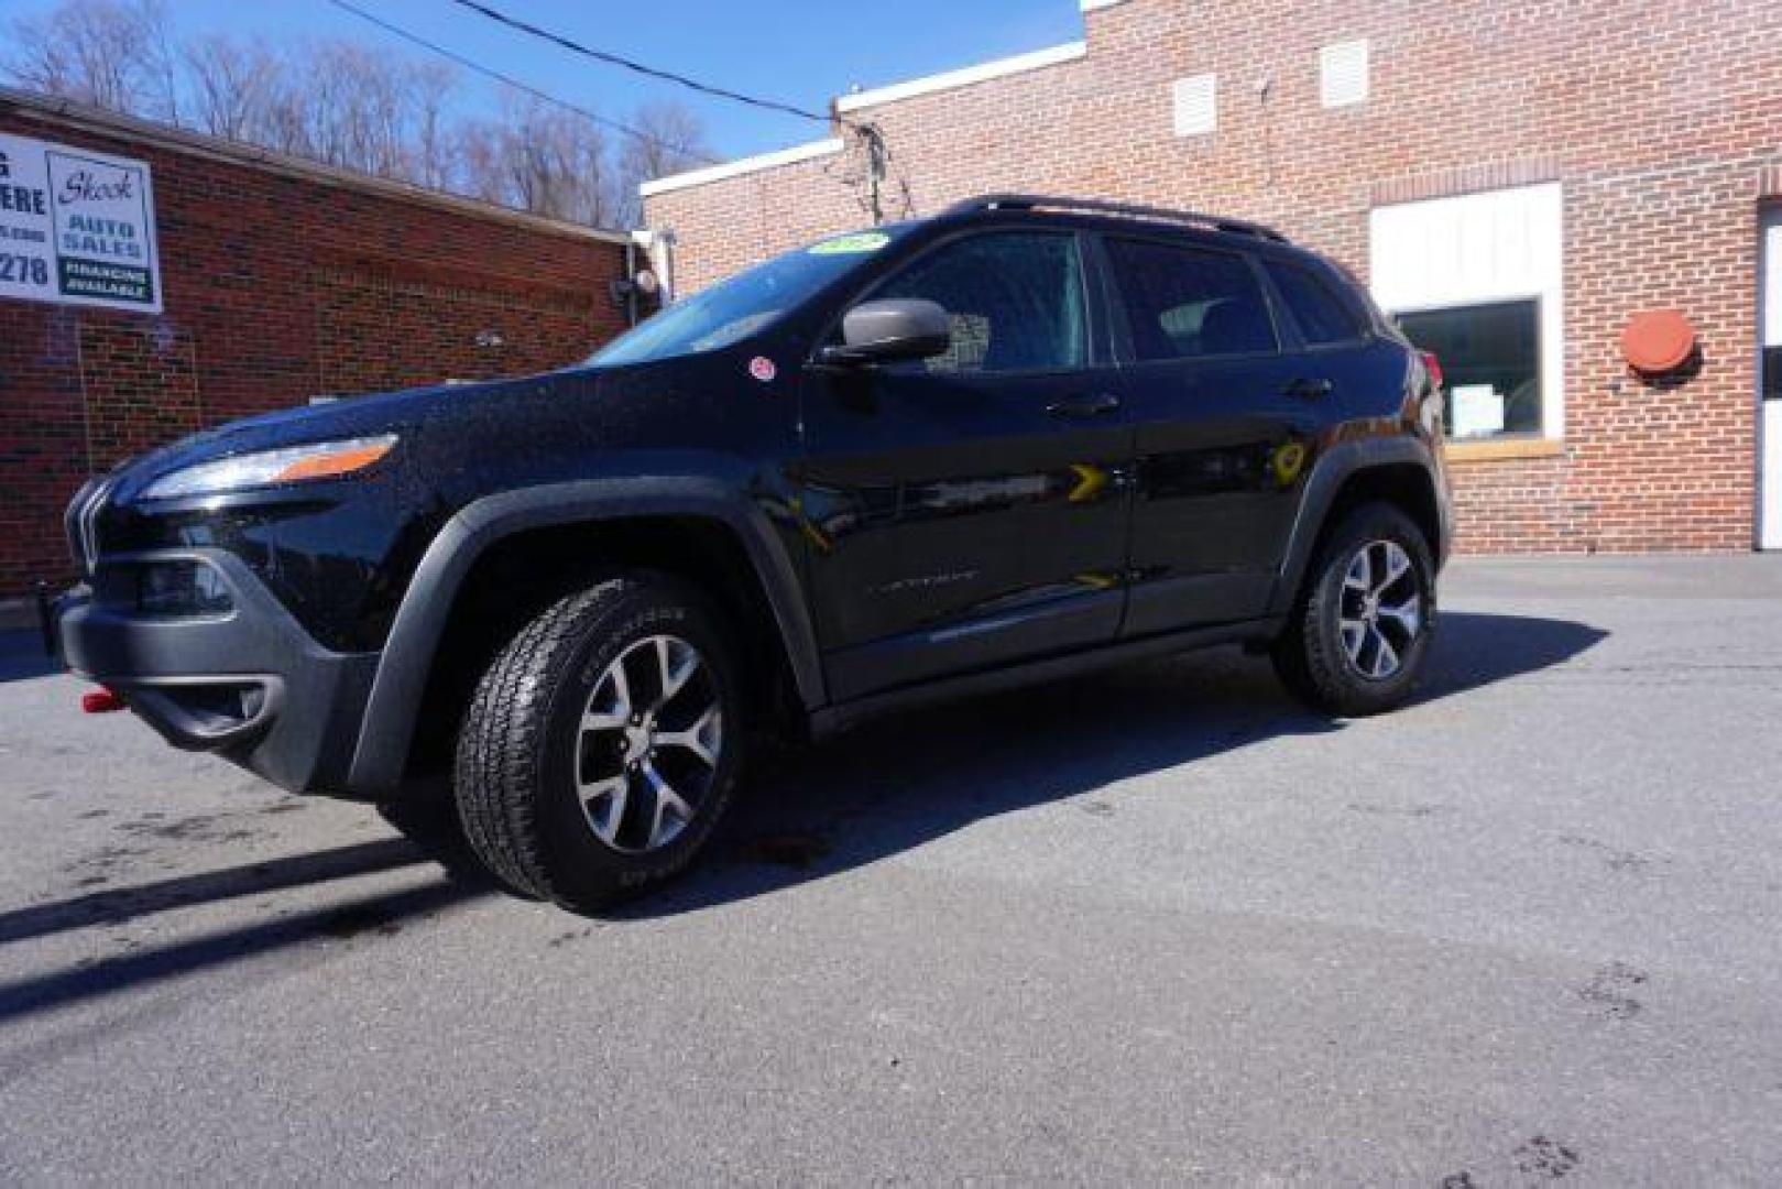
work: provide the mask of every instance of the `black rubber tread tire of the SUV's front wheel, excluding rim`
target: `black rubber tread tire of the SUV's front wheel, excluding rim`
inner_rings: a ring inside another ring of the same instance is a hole
[[[625,852],[590,829],[576,791],[581,715],[593,685],[629,645],[672,633],[713,670],[723,743],[697,813],[656,850]],[[465,840],[522,895],[593,911],[679,873],[736,791],[743,731],[740,679],[725,620],[686,583],[615,574],[526,624],[490,663],[470,699],[453,772]]]

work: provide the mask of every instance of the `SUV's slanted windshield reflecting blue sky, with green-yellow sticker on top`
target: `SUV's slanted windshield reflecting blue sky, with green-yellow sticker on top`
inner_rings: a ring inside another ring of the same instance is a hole
[[[834,235],[757,264],[638,323],[588,362],[643,364],[731,346],[884,248],[896,230]]]

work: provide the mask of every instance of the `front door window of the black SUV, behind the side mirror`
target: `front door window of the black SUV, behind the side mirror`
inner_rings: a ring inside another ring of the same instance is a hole
[[[934,373],[1082,367],[1089,360],[1076,237],[1060,232],[973,235],[880,285],[873,298],[927,298],[946,310],[953,342],[923,360]]]

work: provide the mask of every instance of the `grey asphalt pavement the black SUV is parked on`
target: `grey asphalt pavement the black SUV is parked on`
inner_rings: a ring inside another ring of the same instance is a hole
[[[0,1182],[1782,1180],[1782,558],[1461,562],[773,756],[606,918],[0,647]]]

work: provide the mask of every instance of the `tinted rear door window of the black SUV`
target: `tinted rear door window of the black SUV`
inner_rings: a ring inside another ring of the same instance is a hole
[[[1121,303],[1140,360],[1274,351],[1274,323],[1244,257],[1110,239]]]

